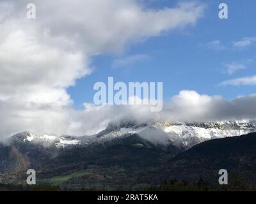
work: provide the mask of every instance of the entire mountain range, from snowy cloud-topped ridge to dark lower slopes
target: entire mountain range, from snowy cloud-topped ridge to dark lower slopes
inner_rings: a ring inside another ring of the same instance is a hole
[[[255,132],[252,120],[124,120],[112,122],[92,136],[23,132],[0,144],[0,182],[22,183],[25,171],[34,168],[40,184],[74,189],[136,189],[139,184],[156,185],[172,179],[195,182],[202,175],[214,183],[218,168],[243,175],[252,172],[255,135],[241,135]]]

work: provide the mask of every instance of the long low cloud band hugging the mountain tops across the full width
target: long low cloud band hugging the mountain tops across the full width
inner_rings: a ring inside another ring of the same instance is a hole
[[[4,131],[9,133],[10,131],[19,132],[24,129],[38,133],[92,135],[106,128],[109,122],[122,119],[138,120],[138,122],[148,120],[200,122],[255,119],[255,103],[256,95],[227,101],[221,96],[207,96],[200,95],[195,91],[181,91],[179,95],[173,96],[170,101],[164,102],[162,112],[150,112],[150,106],[146,105],[95,106],[84,104],[84,110],[56,107],[55,112],[53,112],[52,107],[41,107],[41,109],[35,107],[36,113],[40,113],[40,115],[38,114],[40,117],[38,115],[34,117],[35,120],[31,120],[34,115],[33,110],[29,108],[22,110],[23,113],[28,114],[27,117],[19,117],[15,110],[12,110],[12,117],[10,117],[11,109],[6,109],[8,106],[2,104],[1,113],[8,115],[5,119],[1,118],[2,135],[4,135]],[[19,108],[16,109],[18,113],[21,112]]]

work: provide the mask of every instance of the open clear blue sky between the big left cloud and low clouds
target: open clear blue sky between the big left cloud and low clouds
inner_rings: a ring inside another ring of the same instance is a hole
[[[203,1],[201,1],[203,2]],[[179,1],[150,1],[147,7],[172,7]],[[221,95],[227,99],[255,92],[255,86],[219,86],[232,78],[255,74],[255,45],[234,48],[234,42],[256,36],[256,2],[225,1],[228,19],[218,18],[218,5],[224,1],[204,1],[204,17],[195,26],[164,33],[140,43],[127,45],[122,54],[93,57],[93,73],[77,80],[68,93],[76,108],[93,101],[93,84],[107,82],[163,82],[164,99],[181,90],[195,90],[200,94]],[[218,41],[211,47],[212,41]],[[115,61],[124,62],[120,67]],[[227,64],[243,64],[244,68],[227,73]]]

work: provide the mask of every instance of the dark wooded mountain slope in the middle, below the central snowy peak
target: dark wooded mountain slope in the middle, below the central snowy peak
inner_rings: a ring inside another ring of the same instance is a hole
[[[58,175],[62,171],[79,171],[88,166],[122,166],[122,168],[141,168],[159,166],[177,155],[180,150],[170,145],[168,147],[154,145],[138,135],[127,135],[112,142],[96,142],[87,148],[74,148],[63,152],[60,156],[45,164],[40,171],[44,175]],[[67,168],[68,166],[68,168]],[[56,171],[56,168],[58,170]],[[67,173],[67,172],[65,172]]]

